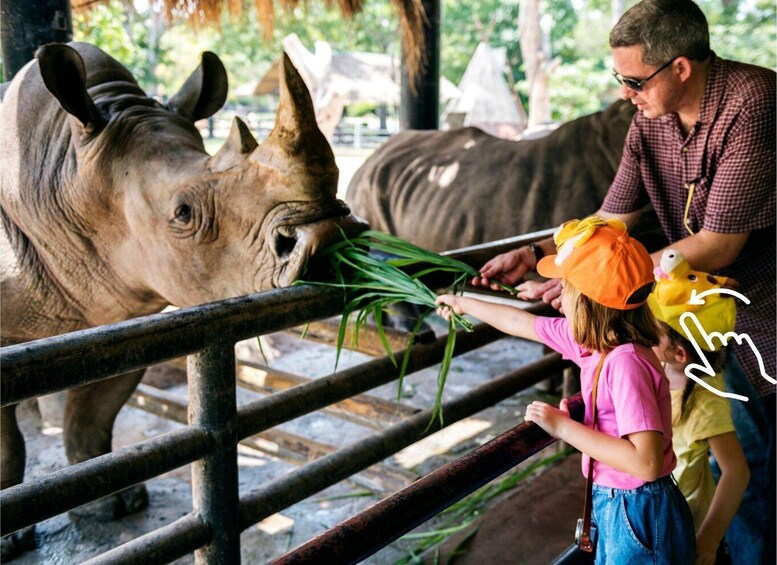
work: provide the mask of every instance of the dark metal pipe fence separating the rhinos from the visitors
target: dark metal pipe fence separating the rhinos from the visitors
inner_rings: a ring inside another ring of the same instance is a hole
[[[192,551],[198,563],[236,563],[242,530],[438,431],[429,425],[431,410],[419,412],[238,497],[236,446],[241,439],[398,377],[391,360],[379,358],[236,405],[237,341],[334,316],[342,305],[335,289],[297,286],[0,349],[2,406],[190,356],[188,426],[2,490],[0,535],[193,463],[190,514],[90,563],[169,562]],[[456,354],[501,337],[478,325],[471,333],[460,332]],[[445,337],[412,346],[408,373],[438,363],[444,349]],[[564,366],[553,354],[506,373],[444,404],[445,423],[509,398]]]

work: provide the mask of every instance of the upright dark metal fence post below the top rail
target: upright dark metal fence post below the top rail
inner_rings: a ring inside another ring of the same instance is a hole
[[[215,452],[192,464],[192,506],[212,532],[210,544],[194,553],[195,563],[240,563],[234,345],[190,355],[188,372],[189,424],[216,439]]]

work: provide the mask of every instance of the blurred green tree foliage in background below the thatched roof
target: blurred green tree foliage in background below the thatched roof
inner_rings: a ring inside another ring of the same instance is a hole
[[[635,2],[627,1],[626,8]],[[476,22],[482,29],[493,24],[489,44],[507,49],[512,79],[526,101],[525,86],[521,86],[525,76],[518,37],[520,5],[521,0],[446,0],[441,17],[441,74],[458,83],[481,40]],[[699,0],[699,5],[710,23],[712,47],[720,56],[777,67],[772,0]],[[552,55],[562,61],[550,79],[553,118],[568,120],[600,109],[617,92],[610,77],[611,0],[545,0],[543,9],[552,20]],[[257,23],[252,2],[245,3],[242,16],[225,17],[219,29],[193,30],[180,23],[160,28],[160,17],[147,3],[133,7],[131,1],[110,0],[76,14],[74,35],[126,64],[147,91],[156,87],[158,94],[167,95],[180,88],[206,49],[224,61],[231,93],[244,85],[250,90],[282,52],[282,39],[289,33],[296,33],[311,50],[316,41],[328,42],[336,52],[398,54],[400,50],[397,18],[385,0],[365,2],[364,11],[351,20],[344,20],[334,3],[306,2],[290,11],[278,8],[269,37]]]

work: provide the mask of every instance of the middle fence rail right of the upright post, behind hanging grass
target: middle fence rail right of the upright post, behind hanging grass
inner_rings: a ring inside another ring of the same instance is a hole
[[[456,354],[465,353],[495,341],[504,334],[486,324],[478,324],[472,332],[459,331]],[[446,337],[430,344],[415,345],[410,354],[407,373],[430,367],[442,360]],[[401,359],[403,352],[397,353]],[[356,367],[338,371],[328,377],[276,392],[238,407],[238,438],[259,432],[314,412],[355,394],[360,394],[398,378],[399,368],[388,357],[382,357]]]

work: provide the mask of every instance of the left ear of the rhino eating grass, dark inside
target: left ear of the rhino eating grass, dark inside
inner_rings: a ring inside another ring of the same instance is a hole
[[[86,91],[86,68],[81,55],[72,47],[52,43],[38,49],[35,56],[43,83],[62,108],[85,128],[102,129],[105,118]]]

